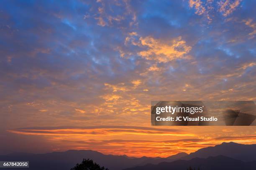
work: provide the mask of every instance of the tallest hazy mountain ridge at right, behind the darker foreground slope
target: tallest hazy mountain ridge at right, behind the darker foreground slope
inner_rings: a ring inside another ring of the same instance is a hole
[[[208,158],[209,156],[223,155],[243,161],[256,160],[256,145],[243,145],[238,143],[222,143],[213,147],[207,147],[197,150],[195,153],[181,158],[182,160],[190,160],[192,158]]]

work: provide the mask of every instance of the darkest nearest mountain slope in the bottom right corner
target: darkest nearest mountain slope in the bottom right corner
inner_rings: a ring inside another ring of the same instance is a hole
[[[225,156],[209,158],[193,158],[192,160],[176,160],[171,163],[159,163],[158,165],[147,164],[125,170],[186,170],[189,167],[196,170],[255,170],[256,161],[243,162]]]

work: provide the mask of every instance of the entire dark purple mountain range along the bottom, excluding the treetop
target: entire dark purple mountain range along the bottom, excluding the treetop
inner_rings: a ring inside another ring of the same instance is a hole
[[[69,170],[82,159],[92,159],[110,170],[186,170],[189,166],[202,170],[255,170],[256,145],[222,143],[197,150],[178,153],[168,158],[134,158],[126,155],[105,155],[92,150],[68,150],[45,154],[13,153],[0,155],[0,161],[29,161],[30,170]],[[23,168],[20,168],[20,170]],[[24,168],[25,169],[25,168]],[[11,170],[8,168],[7,170]]]

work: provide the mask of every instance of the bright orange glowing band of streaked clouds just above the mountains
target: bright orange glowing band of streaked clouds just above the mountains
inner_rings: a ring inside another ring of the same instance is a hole
[[[200,148],[230,141],[243,144],[256,142],[256,135],[238,136],[243,131],[243,128],[239,130],[237,127],[230,127],[228,129],[209,127],[207,132],[205,132],[205,128],[200,127],[189,127],[189,129],[186,127],[181,129],[177,127],[95,126],[84,128],[19,128],[9,130],[9,132],[20,135],[44,136],[49,143],[58,145],[62,150],[95,150],[97,148],[97,151],[105,154],[125,154],[136,157],[145,155],[168,157],[180,152],[195,152]],[[197,135],[188,131],[196,131]],[[217,137],[212,133],[214,131],[216,131]],[[225,136],[218,136],[221,131],[225,133]],[[212,135],[210,135],[210,132]]]

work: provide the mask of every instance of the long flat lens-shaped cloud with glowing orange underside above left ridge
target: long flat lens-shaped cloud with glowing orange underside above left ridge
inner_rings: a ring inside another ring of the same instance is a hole
[[[87,135],[171,135],[171,136],[193,136],[193,134],[183,133],[177,129],[157,129],[133,126],[95,126],[95,127],[38,127],[19,128],[8,130],[11,133],[23,135],[56,135],[56,136],[81,136]]]

